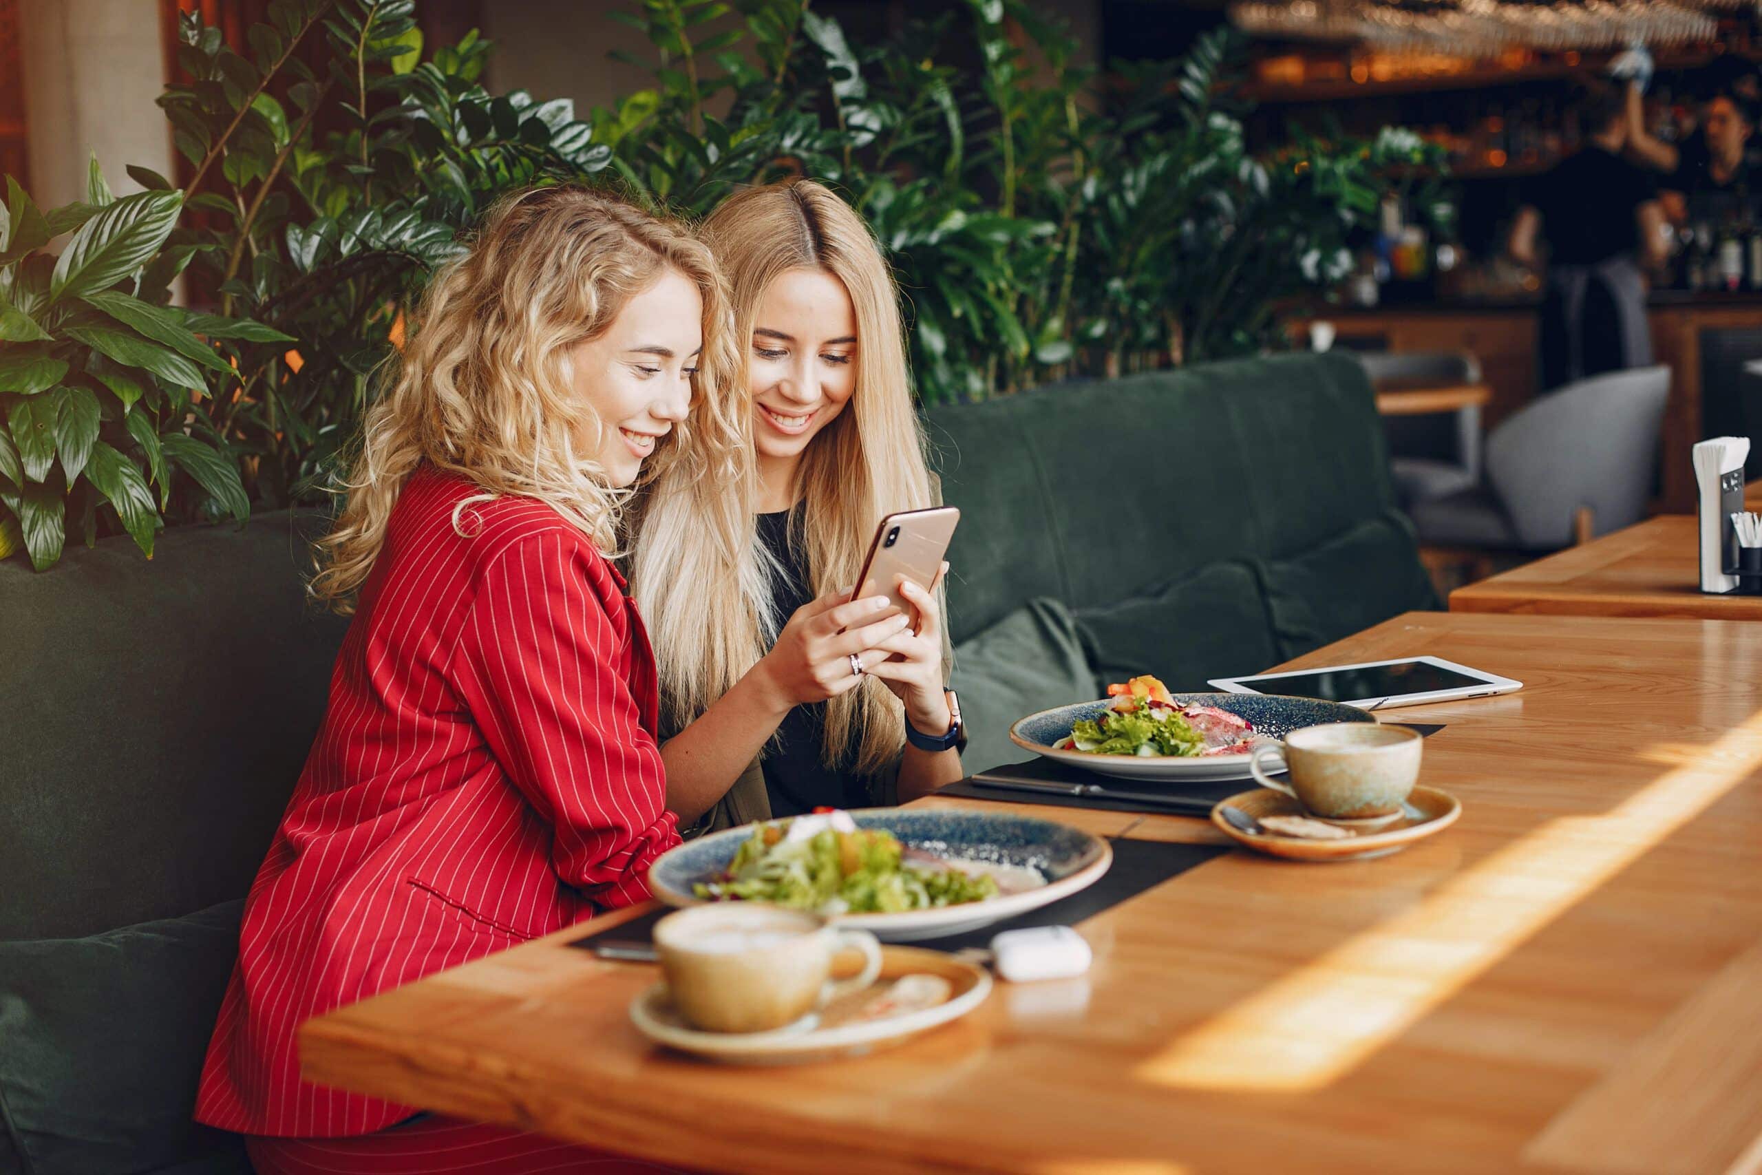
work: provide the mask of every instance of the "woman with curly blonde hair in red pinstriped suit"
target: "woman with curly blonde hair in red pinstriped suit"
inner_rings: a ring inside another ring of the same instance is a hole
[[[294,1031],[648,897],[678,833],[654,655],[608,562],[618,511],[677,474],[729,490],[703,497],[700,543],[733,550],[747,525],[717,513],[749,479],[745,412],[707,391],[737,365],[728,299],[684,227],[587,188],[523,192],[416,321],[312,583],[354,620],[197,1096],[259,1171],[578,1157],[303,1082]]]

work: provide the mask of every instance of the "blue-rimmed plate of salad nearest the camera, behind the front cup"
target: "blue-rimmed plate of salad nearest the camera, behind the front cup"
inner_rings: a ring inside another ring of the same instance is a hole
[[[668,905],[775,902],[890,942],[964,934],[1094,884],[1101,837],[1008,810],[862,809],[729,828],[648,870]]]

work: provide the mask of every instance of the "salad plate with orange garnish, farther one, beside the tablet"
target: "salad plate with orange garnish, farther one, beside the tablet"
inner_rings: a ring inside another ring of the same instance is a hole
[[[1323,722],[1374,722],[1337,701],[1272,694],[1172,694],[1154,676],[1108,685],[1108,696],[1031,713],[1010,728],[1024,750],[1117,779],[1212,782],[1249,779],[1256,740]]]

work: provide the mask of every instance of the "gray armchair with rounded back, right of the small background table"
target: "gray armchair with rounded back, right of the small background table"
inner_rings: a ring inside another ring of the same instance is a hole
[[[1485,481],[1408,513],[1420,543],[1517,551],[1572,546],[1646,514],[1670,368],[1596,375],[1549,393],[1487,437]],[[1577,536],[1588,537],[1588,536]]]

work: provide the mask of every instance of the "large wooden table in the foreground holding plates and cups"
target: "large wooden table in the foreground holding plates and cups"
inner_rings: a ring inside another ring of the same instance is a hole
[[[904,1048],[657,1052],[626,1018],[655,969],[564,948],[578,927],[307,1024],[305,1071],[710,1170],[1762,1168],[1762,625],[1410,613],[1293,666],[1422,652],[1528,684],[1399,712],[1448,724],[1424,782],[1455,828],[1219,856],[1085,921],[1089,976]]]

